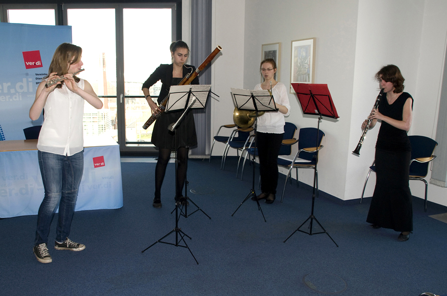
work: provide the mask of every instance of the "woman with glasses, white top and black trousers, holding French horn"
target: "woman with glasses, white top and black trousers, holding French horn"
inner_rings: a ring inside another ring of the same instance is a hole
[[[261,62],[261,74],[264,82],[255,86],[255,90],[272,92],[278,111],[266,112],[258,117],[257,149],[259,155],[259,172],[261,175],[261,194],[253,200],[265,199],[266,203],[275,201],[278,185],[278,154],[284,134],[284,116],[290,114],[289,97],[284,84],[275,80],[276,63],[273,59]]]

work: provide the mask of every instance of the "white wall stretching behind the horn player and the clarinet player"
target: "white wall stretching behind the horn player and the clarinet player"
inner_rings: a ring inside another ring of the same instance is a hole
[[[368,132],[360,157],[351,152],[378,94],[374,74],[381,66],[397,65],[406,79],[405,91],[415,98],[409,134],[434,138],[445,11],[443,0],[214,0],[213,39],[224,50],[213,68],[213,89],[221,97],[213,101],[212,135],[232,122],[230,87],[252,89],[261,81],[262,44],[281,42],[280,81],[289,85],[291,41],[314,37],[315,83],[328,85],[340,116],[320,123],[326,136],[319,154],[319,189],[344,200],[359,198],[379,126]],[[289,100],[292,112],[286,121],[298,128],[316,127],[316,118],[302,114],[296,95]],[[222,148],[215,147],[213,155],[221,155]],[[312,172],[300,171],[300,181],[312,184]],[[374,183],[372,176],[365,196],[372,195]],[[422,182],[411,182],[411,190],[422,197]],[[445,189],[430,185],[429,200],[447,205],[443,195]]]

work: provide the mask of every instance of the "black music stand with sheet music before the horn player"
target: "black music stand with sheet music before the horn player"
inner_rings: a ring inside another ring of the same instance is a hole
[[[252,182],[252,189],[250,190],[249,194],[245,197],[245,199],[241,202],[241,204],[238,206],[236,211],[232,214],[233,215],[238,211],[238,209],[241,207],[241,205],[249,199],[250,196],[254,196],[256,203],[258,204],[258,210],[261,211],[262,217],[264,218],[264,221],[267,222],[267,220],[264,217],[264,213],[262,212],[261,205],[259,204],[259,200],[256,198],[256,192],[255,192],[255,160],[256,160],[256,150],[258,149],[258,143],[257,143],[257,124],[258,124],[258,115],[259,111],[277,111],[275,100],[273,99],[273,95],[269,93],[267,90],[256,90],[256,91],[249,91],[249,90],[241,90],[241,89],[231,89],[232,95],[235,100],[236,107],[238,110],[247,110],[247,111],[254,111],[256,112],[255,117],[255,153],[253,153],[253,182]],[[247,152],[248,153],[248,152]]]

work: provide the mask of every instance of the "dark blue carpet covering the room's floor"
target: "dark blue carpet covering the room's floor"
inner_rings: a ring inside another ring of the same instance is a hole
[[[247,200],[251,169],[236,179],[237,159],[189,160],[189,197],[201,211],[180,217],[184,247],[156,243],[175,226],[174,165],[169,164],[161,209],[152,207],[155,163],[122,163],[124,206],[76,212],[70,238],[81,252],[56,251],[53,262],[33,253],[36,216],[0,220],[2,295],[408,295],[447,293],[447,224],[429,215],[446,207],[413,198],[414,231],[406,242],[390,229],[366,223],[370,198],[341,201],[324,192],[314,214],[327,234],[295,232],[310,215],[311,187],[288,185],[284,203]],[[256,177],[258,180],[258,177]],[[278,188],[284,179],[280,178]],[[324,180],[320,179],[320,182]],[[256,191],[257,190],[256,184]],[[359,184],[362,186],[362,184]],[[280,194],[278,194],[280,196]],[[190,205],[188,211],[195,207]],[[300,229],[308,231],[308,223]],[[319,232],[313,223],[312,232]],[[164,239],[175,243],[175,234]],[[182,242],[180,244],[183,244]]]

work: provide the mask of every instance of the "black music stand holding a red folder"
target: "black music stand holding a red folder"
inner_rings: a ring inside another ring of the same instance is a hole
[[[313,209],[315,204],[315,189],[316,189],[316,165],[318,163],[318,150],[320,149],[318,139],[319,139],[319,130],[320,130],[320,120],[322,116],[329,117],[329,118],[339,118],[339,115],[337,114],[337,110],[332,102],[332,97],[330,96],[329,90],[327,88],[327,84],[308,84],[308,83],[292,83],[292,87],[296,92],[296,95],[298,96],[298,100],[301,104],[301,108],[303,110],[304,114],[310,114],[310,115],[318,115],[318,128],[317,128],[317,136],[316,136],[316,153],[315,153],[315,170],[313,173],[313,192],[312,192],[312,209],[310,212],[310,216],[295,230],[292,234],[287,237],[284,242],[286,242],[287,239],[290,238],[296,231],[301,231],[304,233],[307,233],[309,235],[312,234],[320,234],[320,233],[326,233],[327,236],[333,241],[334,244],[338,247],[339,245],[330,237],[329,233],[324,229],[324,227],[318,222],[316,217],[313,215]],[[299,139],[298,139],[299,141]],[[309,224],[309,232],[301,230],[301,226],[303,226],[308,220],[310,219]],[[318,225],[321,227],[323,231],[312,233],[312,225],[313,220],[315,220]]]

